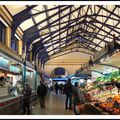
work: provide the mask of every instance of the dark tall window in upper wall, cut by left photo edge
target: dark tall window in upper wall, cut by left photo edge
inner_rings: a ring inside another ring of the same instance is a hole
[[[6,26],[0,21],[0,41],[5,43]]]

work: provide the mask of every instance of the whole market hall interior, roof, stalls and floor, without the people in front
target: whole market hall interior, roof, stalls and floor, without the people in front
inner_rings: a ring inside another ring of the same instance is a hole
[[[0,115],[22,115],[26,84],[31,114],[75,115],[73,101],[65,109],[64,87],[55,94],[68,79],[84,93],[80,114],[120,115],[119,60],[120,5],[0,5]]]

